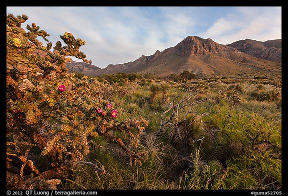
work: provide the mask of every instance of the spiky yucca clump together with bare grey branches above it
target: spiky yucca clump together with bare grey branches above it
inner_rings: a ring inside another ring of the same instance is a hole
[[[217,142],[217,129],[206,127],[202,114],[196,109],[207,97],[195,100],[195,95],[197,92],[184,94],[180,100],[175,97],[162,113],[158,132],[163,140],[179,151],[178,155],[186,157],[199,150],[201,160],[209,161],[221,156],[222,147]]]

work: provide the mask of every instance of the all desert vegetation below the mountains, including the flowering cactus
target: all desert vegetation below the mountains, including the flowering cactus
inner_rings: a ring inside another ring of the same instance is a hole
[[[6,189],[282,189],[279,79],[70,74],[83,40],[6,17]]]

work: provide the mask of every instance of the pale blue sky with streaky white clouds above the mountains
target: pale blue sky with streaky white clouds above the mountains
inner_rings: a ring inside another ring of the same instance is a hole
[[[70,32],[85,41],[80,51],[92,64],[134,61],[181,42],[187,36],[219,44],[242,39],[281,39],[280,6],[7,6],[6,13],[25,14],[45,30],[52,46]],[[43,45],[46,42],[38,38]],[[72,58],[75,61],[81,61]]]

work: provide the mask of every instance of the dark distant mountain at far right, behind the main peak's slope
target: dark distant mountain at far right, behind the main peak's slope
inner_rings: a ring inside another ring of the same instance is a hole
[[[251,56],[262,58],[274,62],[282,61],[282,40],[274,39],[268,41],[256,41],[245,39],[235,41],[228,46],[234,47],[237,50],[249,54]]]

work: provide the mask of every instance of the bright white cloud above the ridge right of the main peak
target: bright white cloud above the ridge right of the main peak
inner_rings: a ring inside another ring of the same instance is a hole
[[[237,7],[218,18],[203,37],[212,38],[221,44],[241,39],[266,41],[281,38],[281,7]]]

